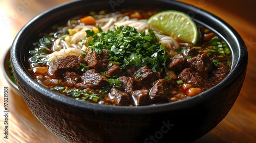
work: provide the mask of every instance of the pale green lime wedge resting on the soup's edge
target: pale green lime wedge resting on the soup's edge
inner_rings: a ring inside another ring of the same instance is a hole
[[[147,23],[162,31],[163,34],[178,37],[182,42],[195,44],[198,38],[196,23],[187,14],[167,10],[148,18]]]

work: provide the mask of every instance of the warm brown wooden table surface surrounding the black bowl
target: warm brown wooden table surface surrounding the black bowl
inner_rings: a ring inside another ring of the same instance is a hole
[[[195,142],[256,142],[256,8],[254,0],[181,0],[207,10],[224,19],[244,39],[249,63],[240,95],[224,120],[212,131]],[[68,0],[0,0],[1,52],[0,58],[9,49],[17,32],[37,14],[68,2]],[[254,3],[254,4],[253,4]],[[2,64],[2,62],[1,62]],[[2,67],[2,65],[1,65]],[[0,142],[63,142],[56,137],[30,112],[23,98],[9,85],[0,71]],[[4,87],[8,87],[8,139],[4,138]]]

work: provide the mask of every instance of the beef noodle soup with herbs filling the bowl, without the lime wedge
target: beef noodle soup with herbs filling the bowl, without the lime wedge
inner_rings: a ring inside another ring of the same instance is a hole
[[[53,26],[33,43],[28,71],[64,96],[116,106],[176,102],[221,82],[228,45],[198,23],[196,44],[166,35],[147,23],[157,12],[93,11]]]

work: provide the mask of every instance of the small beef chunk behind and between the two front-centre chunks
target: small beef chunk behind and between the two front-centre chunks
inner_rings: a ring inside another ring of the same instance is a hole
[[[122,81],[122,88],[127,93],[131,93],[136,90],[136,81],[132,77],[119,77],[118,80]]]

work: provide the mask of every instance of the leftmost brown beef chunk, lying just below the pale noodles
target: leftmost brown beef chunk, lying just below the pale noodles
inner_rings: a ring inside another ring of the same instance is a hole
[[[52,72],[56,77],[62,77],[66,71],[81,73],[80,63],[86,63],[81,56],[67,56],[53,61]]]

